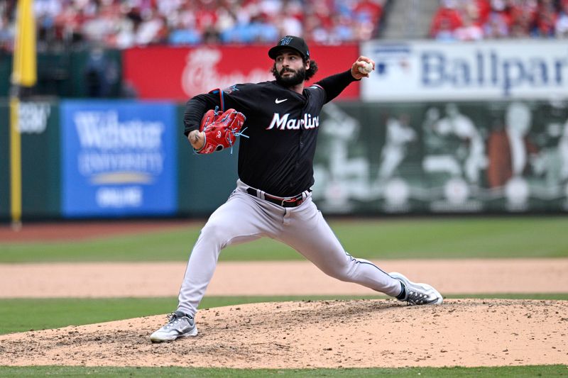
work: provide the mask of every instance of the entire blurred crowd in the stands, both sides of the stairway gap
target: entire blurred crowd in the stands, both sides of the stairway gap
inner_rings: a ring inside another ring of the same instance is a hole
[[[34,0],[38,50],[202,43],[334,45],[377,38],[395,0]],[[434,1],[434,0],[421,0]],[[0,0],[0,51],[13,49],[17,0]],[[568,0],[439,0],[430,38],[567,38]]]

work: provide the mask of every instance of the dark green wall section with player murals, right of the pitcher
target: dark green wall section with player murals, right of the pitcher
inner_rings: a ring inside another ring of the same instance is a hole
[[[313,196],[322,211],[568,211],[566,106],[332,103],[320,129]]]

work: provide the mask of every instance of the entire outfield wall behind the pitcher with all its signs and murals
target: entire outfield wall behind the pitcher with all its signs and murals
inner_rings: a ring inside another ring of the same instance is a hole
[[[182,135],[184,102],[271,79],[267,48],[40,54],[35,93],[43,97],[20,109],[23,218],[207,216],[234,188],[236,152],[195,155]],[[376,62],[371,77],[324,107],[313,187],[322,211],[568,211],[566,41],[374,40],[311,51],[320,78],[359,55]],[[0,57],[0,96],[10,70],[11,57]],[[6,98],[0,124],[4,221]]]

